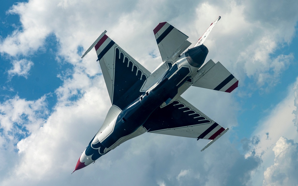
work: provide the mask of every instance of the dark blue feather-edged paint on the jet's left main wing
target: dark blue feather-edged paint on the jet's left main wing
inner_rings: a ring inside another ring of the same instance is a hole
[[[146,75],[137,65],[120,52],[119,48],[115,50],[115,72],[114,72],[114,90],[113,105],[117,105],[123,110],[143,93],[140,92],[142,85],[146,80]],[[120,57],[119,57],[120,54]],[[142,76],[142,79],[141,79]]]

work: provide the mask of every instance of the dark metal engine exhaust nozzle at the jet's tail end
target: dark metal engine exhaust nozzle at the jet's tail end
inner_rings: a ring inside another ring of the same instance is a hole
[[[200,68],[208,54],[208,49],[205,45],[199,45],[185,52],[185,57],[188,63],[194,67]]]

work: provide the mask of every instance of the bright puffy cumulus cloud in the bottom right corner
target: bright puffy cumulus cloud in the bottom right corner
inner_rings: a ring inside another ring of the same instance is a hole
[[[298,143],[280,137],[273,147],[274,164],[264,172],[264,186],[298,185]]]

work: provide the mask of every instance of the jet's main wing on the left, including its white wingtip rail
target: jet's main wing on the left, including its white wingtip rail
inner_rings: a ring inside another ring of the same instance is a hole
[[[151,73],[105,33],[98,37],[82,58],[94,46],[111,103],[122,110],[142,94],[140,89]]]

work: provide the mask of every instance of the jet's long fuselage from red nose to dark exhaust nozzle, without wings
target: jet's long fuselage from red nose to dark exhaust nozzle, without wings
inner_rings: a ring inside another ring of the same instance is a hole
[[[151,113],[163,103],[168,104],[178,89],[203,65],[208,49],[204,45],[186,51],[148,91],[121,110],[113,121],[99,131],[77,162],[75,170],[83,168],[103,154],[116,148],[136,132]]]

